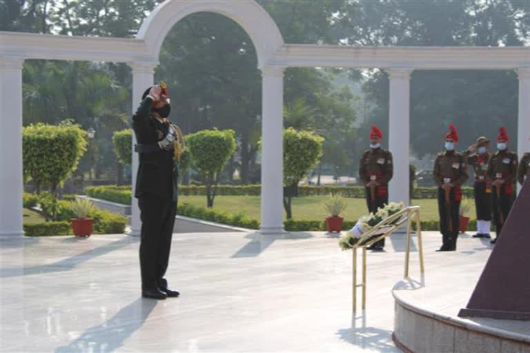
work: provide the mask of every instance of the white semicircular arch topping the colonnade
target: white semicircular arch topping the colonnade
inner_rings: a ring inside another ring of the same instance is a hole
[[[162,42],[181,19],[195,12],[215,12],[232,19],[251,37],[262,68],[282,48],[284,39],[271,16],[254,0],[166,0],[150,13],[136,35],[158,59]]]

